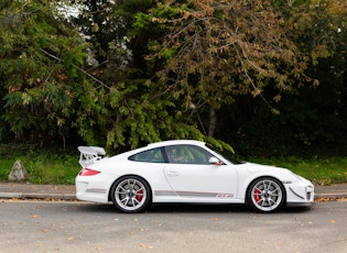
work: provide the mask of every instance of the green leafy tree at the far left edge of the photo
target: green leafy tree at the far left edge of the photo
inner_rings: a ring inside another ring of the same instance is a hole
[[[0,20],[2,120],[19,140],[65,143],[84,80],[83,37],[52,1],[2,1]]]

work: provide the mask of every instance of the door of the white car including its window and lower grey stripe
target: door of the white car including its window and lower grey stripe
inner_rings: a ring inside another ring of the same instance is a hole
[[[209,164],[214,155],[195,145],[166,146],[164,174],[183,200],[226,202],[237,196],[237,174],[227,164]]]

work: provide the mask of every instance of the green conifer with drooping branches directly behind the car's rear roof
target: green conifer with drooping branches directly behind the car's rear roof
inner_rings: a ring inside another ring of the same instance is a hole
[[[160,63],[145,64],[148,42],[162,31],[147,26],[132,29],[134,15],[147,12],[153,1],[84,1],[78,18],[95,55],[90,72],[100,86],[86,98],[77,112],[75,127],[89,144],[120,151],[167,139],[208,140],[231,150],[229,145],[206,139],[181,107],[163,96],[158,86],[145,80]],[[95,101],[95,102],[93,102]],[[85,124],[86,121],[93,122]],[[104,139],[104,141],[102,141]]]

